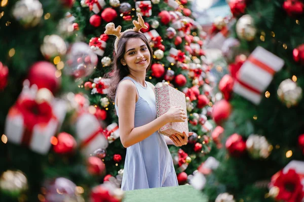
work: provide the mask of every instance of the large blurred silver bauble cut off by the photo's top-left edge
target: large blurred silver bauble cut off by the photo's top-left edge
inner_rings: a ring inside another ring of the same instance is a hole
[[[42,4],[38,0],[20,0],[13,7],[13,16],[24,27],[34,27],[43,15]]]

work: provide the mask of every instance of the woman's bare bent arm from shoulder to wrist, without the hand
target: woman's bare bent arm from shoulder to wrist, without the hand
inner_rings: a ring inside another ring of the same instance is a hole
[[[136,86],[130,80],[126,79],[118,86],[120,138],[124,147],[144,140],[170,121],[164,114],[146,125],[134,128],[136,94]]]

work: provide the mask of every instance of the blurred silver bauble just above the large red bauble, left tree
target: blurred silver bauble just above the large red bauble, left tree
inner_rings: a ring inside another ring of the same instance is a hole
[[[47,35],[43,39],[43,44],[40,47],[42,55],[47,59],[52,59],[56,56],[66,54],[66,45],[64,40],[58,35]]]

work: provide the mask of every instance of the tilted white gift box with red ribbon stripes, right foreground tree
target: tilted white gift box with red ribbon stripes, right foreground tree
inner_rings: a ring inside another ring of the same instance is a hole
[[[240,68],[234,92],[258,105],[262,98],[261,94],[272,81],[274,74],[283,66],[283,59],[257,46]]]

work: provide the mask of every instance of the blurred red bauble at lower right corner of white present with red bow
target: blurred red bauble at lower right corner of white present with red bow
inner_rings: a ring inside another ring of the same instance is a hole
[[[74,150],[77,143],[74,137],[66,132],[61,132],[57,136],[57,144],[53,149],[57,154],[67,154]]]

